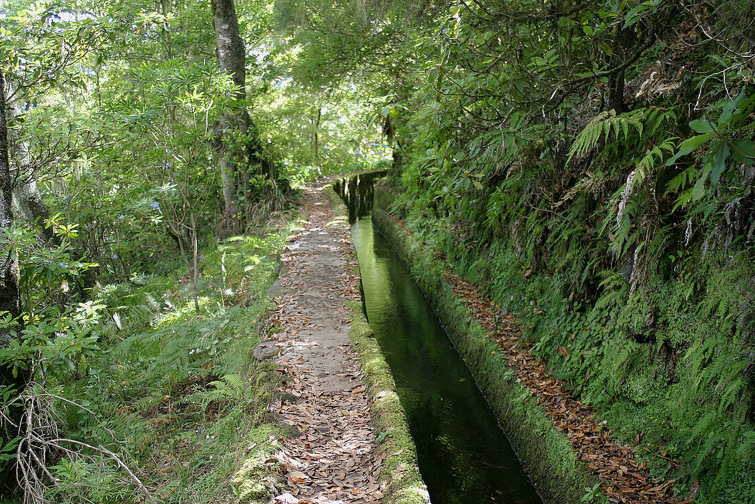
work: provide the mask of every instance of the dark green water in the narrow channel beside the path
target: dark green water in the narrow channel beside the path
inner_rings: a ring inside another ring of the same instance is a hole
[[[371,181],[363,185],[371,196]],[[368,321],[396,379],[433,504],[541,503],[433,309],[372,226],[371,201],[351,192]]]

